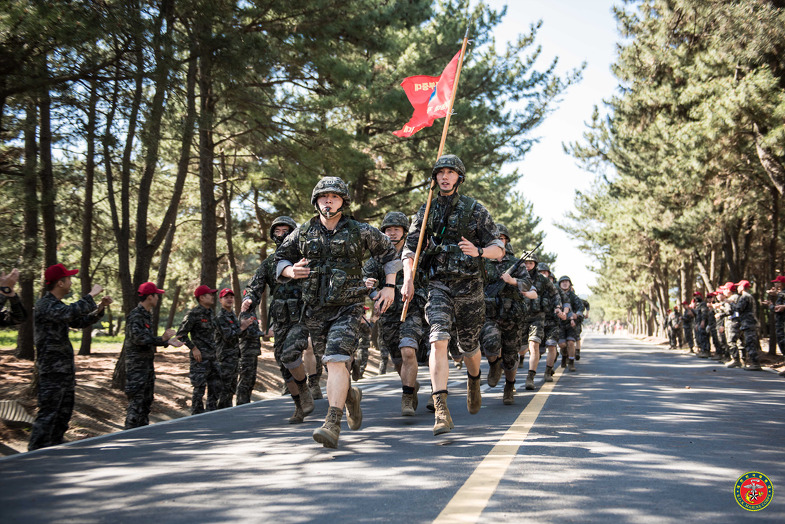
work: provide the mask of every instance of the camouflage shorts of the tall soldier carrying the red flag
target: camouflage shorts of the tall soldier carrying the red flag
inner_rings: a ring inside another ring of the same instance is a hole
[[[450,340],[455,332],[460,352],[467,357],[480,351],[480,331],[485,323],[485,293],[481,279],[428,284],[425,319],[430,324],[429,342]]]

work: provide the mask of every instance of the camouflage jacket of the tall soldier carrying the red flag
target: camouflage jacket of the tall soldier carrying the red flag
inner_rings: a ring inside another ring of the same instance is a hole
[[[460,195],[437,196],[428,215],[427,224],[423,224],[425,217],[423,204],[406,236],[402,258],[414,258],[420,230],[425,227],[423,242],[423,270],[430,280],[450,281],[466,278],[482,278],[485,266],[477,257],[464,255],[458,247],[461,237],[483,249],[498,246],[504,249],[504,243],[499,238],[499,231],[493,218],[485,207],[476,200]],[[444,215],[452,207],[447,217],[443,234],[435,235],[434,231],[443,223]]]

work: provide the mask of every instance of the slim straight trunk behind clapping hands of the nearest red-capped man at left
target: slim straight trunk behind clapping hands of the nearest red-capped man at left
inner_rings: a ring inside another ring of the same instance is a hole
[[[87,153],[85,158],[85,198],[82,214],[82,265],[79,269],[82,284],[82,296],[93,287],[90,263],[93,257],[93,180],[95,179],[95,128],[96,104],[98,103],[98,84],[90,80],[90,101],[87,108]],[[93,341],[92,326],[82,329],[82,345],[80,355],[89,355]]]

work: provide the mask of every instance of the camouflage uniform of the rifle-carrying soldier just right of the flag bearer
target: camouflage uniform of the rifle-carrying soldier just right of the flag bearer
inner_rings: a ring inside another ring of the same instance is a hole
[[[504,370],[510,371],[518,363],[521,321],[527,313],[521,292],[531,289],[531,279],[526,266],[521,263],[515,274],[510,275],[518,281],[517,286],[501,280],[502,274],[515,263],[509,244],[501,261],[485,259],[484,262],[488,285],[485,287],[485,324],[480,331],[480,345],[489,361],[491,357],[501,357]],[[503,284],[501,289],[499,282]]]

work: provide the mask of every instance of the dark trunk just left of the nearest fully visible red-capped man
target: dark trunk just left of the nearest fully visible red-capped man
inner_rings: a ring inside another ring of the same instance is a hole
[[[35,304],[35,284],[41,277],[38,263],[38,192],[37,192],[37,143],[36,143],[36,105],[33,100],[27,102],[24,122],[25,166],[24,166],[24,230],[22,246],[22,267],[19,275],[19,297],[28,318],[19,326],[16,339],[17,358],[35,359],[33,340],[33,305]]]

